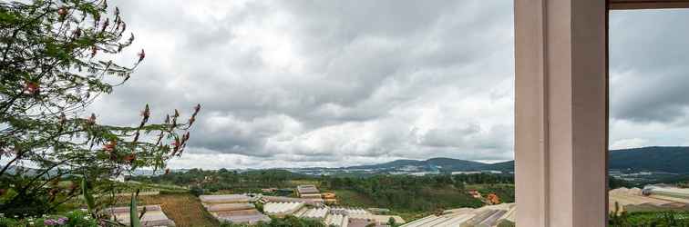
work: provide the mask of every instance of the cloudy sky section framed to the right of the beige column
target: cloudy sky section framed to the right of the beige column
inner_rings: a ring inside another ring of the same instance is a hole
[[[611,15],[611,147],[689,145],[687,10]]]

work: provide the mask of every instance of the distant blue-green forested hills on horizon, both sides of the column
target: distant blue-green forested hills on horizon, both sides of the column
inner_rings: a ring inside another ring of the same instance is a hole
[[[417,168],[427,171],[514,171],[514,161],[478,163],[450,158],[397,160],[390,163],[352,166],[347,169],[386,169],[390,171]],[[689,173],[689,147],[642,147],[610,151],[612,170]]]

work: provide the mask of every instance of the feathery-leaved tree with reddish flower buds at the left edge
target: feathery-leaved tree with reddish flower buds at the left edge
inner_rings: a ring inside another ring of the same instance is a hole
[[[69,177],[87,177],[93,190],[139,167],[161,170],[183,152],[200,105],[188,120],[174,110],[149,123],[147,104],[133,126],[85,113],[146,57],[111,60],[134,41],[126,31],[105,0],[0,3],[0,212],[51,212],[87,186]]]

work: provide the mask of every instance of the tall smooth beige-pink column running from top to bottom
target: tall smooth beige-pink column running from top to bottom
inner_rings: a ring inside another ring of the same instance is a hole
[[[605,1],[514,3],[517,224],[605,226]]]

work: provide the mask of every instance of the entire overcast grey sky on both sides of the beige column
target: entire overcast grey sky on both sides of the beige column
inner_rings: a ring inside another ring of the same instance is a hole
[[[512,1],[114,1],[147,58],[92,109],[203,108],[172,168],[513,158]],[[689,12],[612,14],[612,148],[689,145]],[[631,26],[634,27],[631,27]]]

